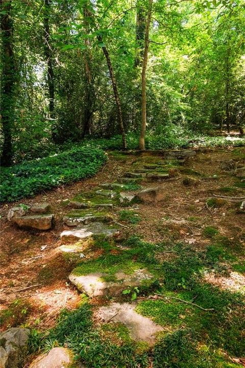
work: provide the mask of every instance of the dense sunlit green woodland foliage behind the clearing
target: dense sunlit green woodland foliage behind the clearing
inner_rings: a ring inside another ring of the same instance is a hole
[[[2,47],[12,52],[8,60],[3,52],[1,59],[1,140],[3,144],[7,136],[8,154],[11,151],[5,166],[57,152],[57,145],[82,142],[84,137],[120,133],[105,50],[126,132],[138,135],[150,3],[1,3]],[[11,34],[6,31],[9,27]],[[178,137],[191,137],[193,131],[200,134],[225,126],[228,132],[236,128],[243,133],[244,36],[242,0],[153,2],[146,131],[150,140],[151,136],[161,137],[159,148],[176,147]]]

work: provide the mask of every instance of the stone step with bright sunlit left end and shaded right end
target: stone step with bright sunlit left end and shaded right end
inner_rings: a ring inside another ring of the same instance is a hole
[[[103,235],[110,238],[118,234],[118,228],[110,227],[100,222],[95,222],[87,225],[86,227],[63,231],[60,237],[65,243],[70,243],[91,237],[93,235]]]

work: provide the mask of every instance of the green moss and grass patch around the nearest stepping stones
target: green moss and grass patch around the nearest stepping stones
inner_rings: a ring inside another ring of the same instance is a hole
[[[229,277],[231,269],[240,272],[244,267],[240,247],[231,242],[216,234],[206,249],[198,250],[181,242],[154,244],[132,236],[120,241],[122,250],[118,242],[95,237],[92,250],[103,254],[80,261],[74,272],[105,272],[111,280],[119,270],[152,272],[158,283],[139,295],[160,296],[139,299],[136,310],[163,326],[157,342],[153,347],[134,342],[121,324],[93,325],[84,298],[77,310],[62,312],[49,334],[33,332],[30,351],[66,346],[88,368],[238,368],[229,357],[242,357],[245,351],[244,294],[208,282],[209,273]]]

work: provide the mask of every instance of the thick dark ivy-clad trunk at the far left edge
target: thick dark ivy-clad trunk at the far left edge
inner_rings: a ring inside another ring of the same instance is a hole
[[[13,21],[11,18],[11,1],[1,0],[1,34],[2,34],[2,83],[1,83],[1,116],[4,143],[1,165],[12,164],[12,125],[14,115],[14,83],[15,63],[13,53]]]

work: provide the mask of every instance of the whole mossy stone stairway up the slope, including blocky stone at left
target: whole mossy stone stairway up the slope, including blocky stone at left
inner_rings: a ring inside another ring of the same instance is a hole
[[[117,226],[114,208],[162,201],[165,195],[163,189],[159,186],[148,188],[149,182],[167,180],[169,169],[183,165],[194,154],[194,151],[168,151],[161,159],[159,156],[153,157],[150,163],[143,159],[140,163],[136,160],[132,164],[132,170],[119,177],[116,182],[103,183],[89,193],[80,193],[70,199],[66,203],[69,211],[63,217],[66,228],[60,234],[63,245],[59,250],[77,253],[86,261],[83,255],[84,239],[96,236],[106,239],[120,235],[121,227]],[[9,220],[20,227],[48,229],[53,225],[54,214],[50,212],[48,204],[18,207],[11,211]],[[123,252],[127,252],[127,249]],[[112,320],[114,313],[115,321],[130,328],[132,338],[154,343],[155,333],[162,330],[161,326],[153,323],[150,318],[140,316],[135,311],[137,303],[117,302],[121,300],[124,290],[138,290],[145,284],[153,284],[156,281],[154,275],[140,266],[129,272],[124,268],[124,262],[121,263],[121,269],[117,269],[113,275],[99,269],[85,272],[83,262],[82,259],[80,265],[70,273],[69,281],[91,298],[113,296],[113,303],[96,312],[101,323],[107,319]]]

